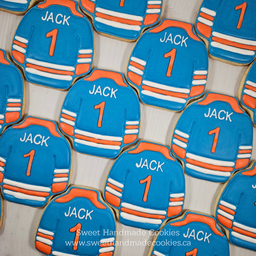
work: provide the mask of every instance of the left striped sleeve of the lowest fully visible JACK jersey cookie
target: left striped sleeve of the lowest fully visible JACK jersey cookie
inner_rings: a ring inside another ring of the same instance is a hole
[[[126,162],[125,159],[126,155],[122,155],[115,161],[110,170],[105,185],[105,199],[110,205],[114,207],[119,207],[121,204],[125,177],[128,171],[127,164],[124,164]]]

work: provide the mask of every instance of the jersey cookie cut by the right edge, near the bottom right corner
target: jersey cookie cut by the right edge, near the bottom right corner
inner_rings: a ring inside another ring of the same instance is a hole
[[[216,218],[230,242],[256,251],[256,162],[225,184],[217,202]]]

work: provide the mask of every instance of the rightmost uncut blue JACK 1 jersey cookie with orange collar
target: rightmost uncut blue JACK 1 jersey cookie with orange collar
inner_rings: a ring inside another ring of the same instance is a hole
[[[207,93],[181,114],[171,140],[173,154],[195,178],[226,182],[248,166],[253,125],[234,97]],[[228,150],[227,150],[228,149]]]

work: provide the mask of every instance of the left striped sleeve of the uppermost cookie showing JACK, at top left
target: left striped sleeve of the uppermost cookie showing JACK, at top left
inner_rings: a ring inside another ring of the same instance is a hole
[[[24,64],[25,53],[29,44],[30,37],[33,33],[33,26],[31,20],[34,19],[35,10],[28,12],[21,20],[12,42],[12,58]]]

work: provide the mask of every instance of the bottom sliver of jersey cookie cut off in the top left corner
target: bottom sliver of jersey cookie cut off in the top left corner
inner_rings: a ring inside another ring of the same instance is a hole
[[[12,14],[24,15],[40,0],[0,0],[0,10]]]

